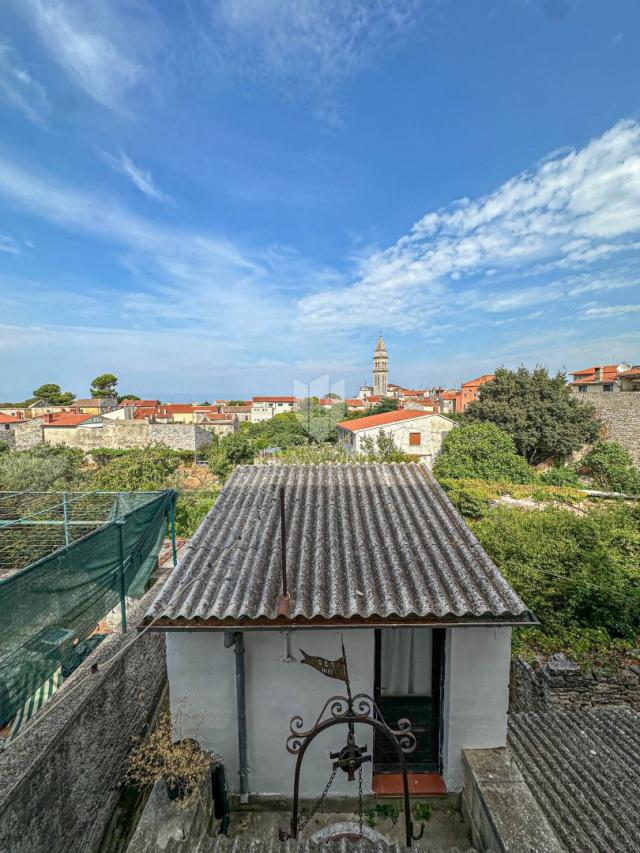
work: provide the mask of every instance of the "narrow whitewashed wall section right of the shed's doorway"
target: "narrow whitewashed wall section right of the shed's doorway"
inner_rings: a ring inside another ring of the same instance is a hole
[[[448,628],[443,716],[444,781],[463,782],[462,750],[507,742],[511,628]]]

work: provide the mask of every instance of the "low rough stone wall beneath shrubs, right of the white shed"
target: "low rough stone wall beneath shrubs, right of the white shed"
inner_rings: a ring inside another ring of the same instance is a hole
[[[511,712],[544,712],[567,706],[640,711],[640,665],[616,672],[595,668],[582,671],[562,654],[552,655],[538,669],[520,658],[512,662]]]

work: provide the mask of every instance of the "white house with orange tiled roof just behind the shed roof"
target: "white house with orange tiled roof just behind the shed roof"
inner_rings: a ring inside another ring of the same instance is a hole
[[[363,453],[366,438],[374,441],[380,434],[393,438],[403,453],[420,457],[431,466],[442,448],[445,435],[456,424],[442,415],[399,409],[380,415],[365,415],[337,424],[338,444],[351,453]]]

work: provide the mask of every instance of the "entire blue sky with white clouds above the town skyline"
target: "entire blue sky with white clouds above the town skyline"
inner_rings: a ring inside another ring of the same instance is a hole
[[[4,0],[0,398],[640,361],[635,0]]]

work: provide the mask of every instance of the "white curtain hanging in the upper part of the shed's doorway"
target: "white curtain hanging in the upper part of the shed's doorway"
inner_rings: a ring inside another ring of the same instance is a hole
[[[431,696],[431,628],[383,628],[382,696]]]

